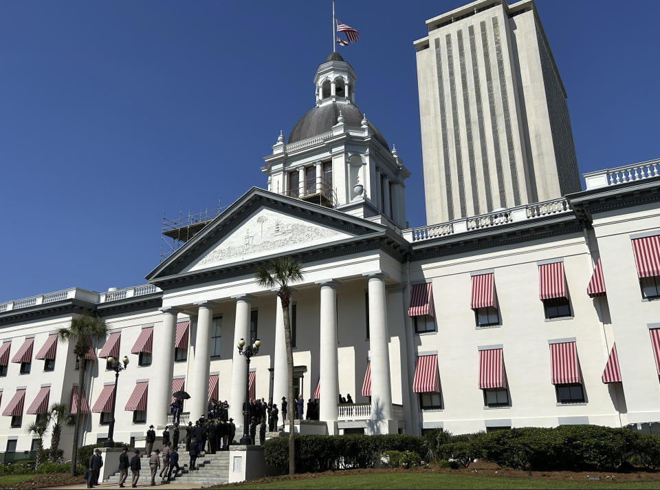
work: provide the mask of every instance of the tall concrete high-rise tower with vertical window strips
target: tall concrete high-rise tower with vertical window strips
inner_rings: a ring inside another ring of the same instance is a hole
[[[580,190],[566,91],[532,0],[481,0],[415,41],[428,224]]]

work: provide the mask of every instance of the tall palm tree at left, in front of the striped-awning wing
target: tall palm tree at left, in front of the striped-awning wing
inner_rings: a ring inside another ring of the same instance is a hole
[[[58,332],[60,340],[74,345],[74,354],[78,356],[78,403],[76,405],[76,429],[74,429],[74,449],[71,455],[71,476],[76,475],[76,458],[78,456],[78,434],[80,434],[80,410],[83,408],[83,385],[85,383],[85,354],[91,347],[92,342],[101,341],[107,337],[108,327],[105,322],[98,317],[81,315],[72,319],[69,328],[61,328]]]

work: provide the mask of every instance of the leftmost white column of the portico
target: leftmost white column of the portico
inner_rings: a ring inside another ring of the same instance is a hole
[[[151,422],[157,427],[167,424],[167,414],[170,412],[172,396],[172,376],[174,375],[174,341],[177,332],[176,308],[162,308],[163,325],[159,329],[158,341],[153,343],[153,359],[157,359],[162,369],[151,382],[149,413]]]

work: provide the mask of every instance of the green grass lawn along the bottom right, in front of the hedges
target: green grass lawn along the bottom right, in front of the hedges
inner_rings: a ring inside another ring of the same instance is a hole
[[[245,489],[657,489],[658,482],[531,480],[451,473],[366,473],[245,484]]]

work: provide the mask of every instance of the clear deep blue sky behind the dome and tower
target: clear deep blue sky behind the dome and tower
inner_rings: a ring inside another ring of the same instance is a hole
[[[337,0],[357,103],[412,171],[426,223],[415,50],[460,0]],[[660,156],[660,2],[538,0],[580,171]],[[144,284],[163,213],[265,187],[280,129],[314,106],[330,0],[0,1],[0,302]]]

